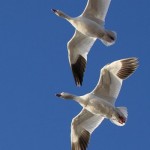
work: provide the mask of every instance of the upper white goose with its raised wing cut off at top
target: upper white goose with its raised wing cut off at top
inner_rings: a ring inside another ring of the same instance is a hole
[[[105,16],[111,0],[88,0],[83,13],[75,18],[60,10],[52,9],[59,17],[66,19],[75,28],[75,33],[67,43],[69,63],[75,83],[81,86],[87,63],[87,55],[96,39],[105,45],[115,43],[116,33],[104,28]]]

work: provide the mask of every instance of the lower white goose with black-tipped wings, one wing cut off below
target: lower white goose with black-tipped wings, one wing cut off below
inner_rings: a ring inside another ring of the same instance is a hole
[[[114,61],[101,69],[100,78],[94,90],[83,96],[60,93],[56,96],[73,99],[82,107],[82,111],[71,123],[72,150],[86,150],[90,135],[101,124],[104,118],[118,126],[127,120],[127,108],[115,107],[122,82],[138,67],[137,58],[126,58]]]

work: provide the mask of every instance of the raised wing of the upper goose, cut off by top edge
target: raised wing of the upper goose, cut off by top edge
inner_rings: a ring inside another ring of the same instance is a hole
[[[88,0],[82,16],[90,18],[94,21],[105,22],[105,17],[109,8],[111,0]]]

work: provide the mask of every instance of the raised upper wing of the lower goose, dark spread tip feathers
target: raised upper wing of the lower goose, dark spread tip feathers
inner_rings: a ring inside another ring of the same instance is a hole
[[[114,104],[120,92],[123,79],[129,77],[137,67],[137,58],[121,59],[104,66],[101,69],[98,84],[92,93]]]

